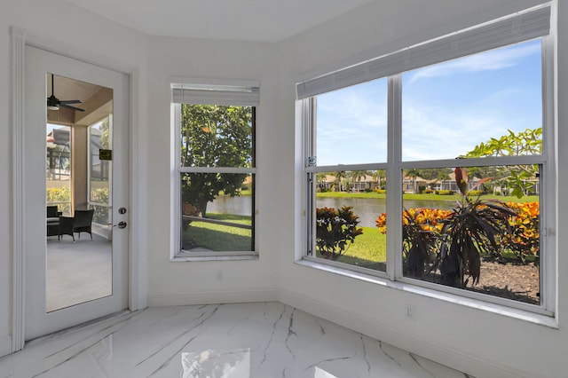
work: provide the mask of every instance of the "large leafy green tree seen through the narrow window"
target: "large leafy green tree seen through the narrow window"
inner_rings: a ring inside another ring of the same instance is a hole
[[[251,167],[254,109],[249,106],[183,105],[183,167]],[[245,173],[184,173],[182,199],[206,217],[207,204],[221,192],[238,196]]]

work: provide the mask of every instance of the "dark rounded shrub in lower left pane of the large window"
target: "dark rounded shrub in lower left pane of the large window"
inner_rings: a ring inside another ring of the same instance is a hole
[[[316,209],[316,247],[322,257],[337,260],[363,233],[351,206]]]

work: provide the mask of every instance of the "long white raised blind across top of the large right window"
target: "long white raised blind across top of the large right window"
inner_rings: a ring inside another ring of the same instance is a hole
[[[548,35],[550,6],[485,23],[296,84],[298,99]]]

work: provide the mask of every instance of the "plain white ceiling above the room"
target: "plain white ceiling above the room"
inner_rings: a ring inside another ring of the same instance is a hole
[[[374,0],[67,0],[146,35],[280,42]]]

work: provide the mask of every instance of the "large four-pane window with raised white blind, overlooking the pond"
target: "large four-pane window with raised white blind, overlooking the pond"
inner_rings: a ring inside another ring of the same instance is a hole
[[[304,258],[551,314],[548,29],[541,7],[298,84]]]

